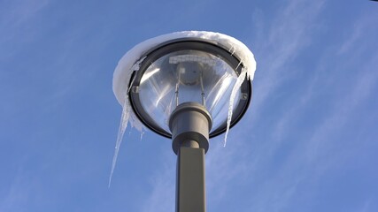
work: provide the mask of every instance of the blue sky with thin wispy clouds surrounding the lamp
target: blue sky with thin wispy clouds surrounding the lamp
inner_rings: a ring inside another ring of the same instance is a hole
[[[182,30],[255,54],[251,107],[206,155],[208,211],[378,211],[378,3],[0,2],[0,211],[174,211],[170,140],[128,129],[112,73]]]

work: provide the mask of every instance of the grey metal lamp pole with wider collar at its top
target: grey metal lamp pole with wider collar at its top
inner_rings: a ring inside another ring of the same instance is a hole
[[[180,104],[169,119],[177,155],[176,212],[205,212],[204,154],[212,117],[197,102]]]

